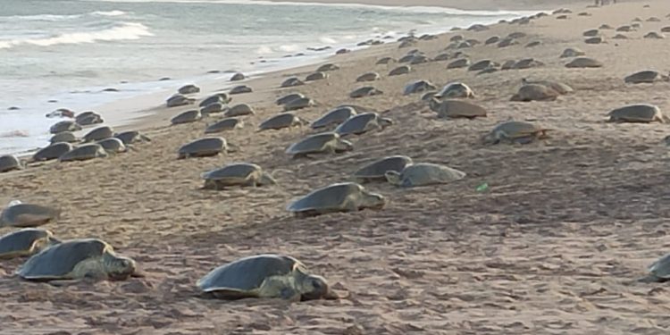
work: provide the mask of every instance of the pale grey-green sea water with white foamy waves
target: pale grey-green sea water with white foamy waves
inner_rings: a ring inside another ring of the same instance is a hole
[[[262,73],[369,38],[391,41],[410,30],[437,33],[528,14],[243,0],[0,4],[0,155],[45,147],[49,127],[60,121],[45,115],[58,108],[96,110],[117,99],[228,76],[208,71]],[[309,50],[322,46],[332,48]],[[298,53],[304,55],[287,57]],[[163,77],[172,80],[159,81]]]

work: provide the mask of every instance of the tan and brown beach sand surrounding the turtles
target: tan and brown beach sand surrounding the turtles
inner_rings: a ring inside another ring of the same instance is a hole
[[[0,334],[664,334],[670,328],[670,290],[635,280],[668,251],[670,192],[668,126],[606,123],[605,114],[630,103],[668,110],[670,84],[625,85],[633,71],[667,71],[667,39],[641,38],[670,25],[665,1],[573,8],[566,21],[549,16],[529,25],[498,24],[465,32],[484,40],[523,31],[518,46],[465,49],[471,59],[535,57],[546,66],[475,76],[446,63],[415,66],[388,77],[375,66],[385,54],[408,49],[377,46],[334,58],[342,69],[329,80],[279,89],[296,69],[248,84],[247,127],[224,133],[238,153],[176,160],[177,149],[203,136],[205,121],[168,127],[188,107],[145,119],[154,140],[137,152],[85,163],[49,163],[0,177],[0,203],[23,201],[63,207],[46,226],[62,239],[105,239],[134,257],[145,279],[55,288],[12,276],[21,260],[0,263]],[[578,16],[586,11],[591,16]],[[586,45],[582,31],[657,16],[626,33],[628,40]],[[448,45],[448,34],[417,47],[429,56]],[[533,40],[544,45],[526,48]],[[578,46],[605,63],[568,70],[559,59]],[[352,100],[364,71],[379,71],[381,96]],[[554,102],[512,103],[522,78],[565,81],[576,92]],[[402,96],[411,80],[443,85],[463,80],[490,110],[486,119],[440,120]],[[224,85],[226,83],[220,83]],[[203,86],[214,90],[216,85]],[[176,88],[175,88],[176,89]],[[291,160],[283,150],[310,130],[255,132],[279,112],[277,96],[299,91],[318,106],[299,112],[314,120],[329,108],[354,103],[387,111],[396,125],[354,138],[348,154]],[[205,93],[202,96],[206,96]],[[483,147],[478,138],[499,121],[534,120],[554,131],[525,146]],[[468,173],[439,187],[367,188],[388,197],[381,211],[296,219],[284,207],[310,189],[347,180],[364,163],[385,155],[445,163]],[[275,171],[275,188],[204,191],[201,172],[247,161]],[[477,193],[482,182],[490,191]],[[10,230],[2,230],[2,233]],[[195,297],[199,277],[240,256],[294,255],[324,275],[345,298],[288,304],[224,302]]]

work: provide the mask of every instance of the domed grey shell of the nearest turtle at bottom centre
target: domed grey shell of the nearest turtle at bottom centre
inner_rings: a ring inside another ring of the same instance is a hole
[[[196,285],[204,292],[230,297],[257,297],[257,289],[272,276],[289,276],[305,265],[288,255],[252,255],[224,264],[207,273]]]

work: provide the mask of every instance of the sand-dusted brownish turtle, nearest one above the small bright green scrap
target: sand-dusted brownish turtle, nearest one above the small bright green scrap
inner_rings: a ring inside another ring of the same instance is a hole
[[[549,129],[526,121],[504,121],[498,123],[493,130],[482,137],[484,144],[498,144],[501,142],[528,144],[534,139],[547,138]]]

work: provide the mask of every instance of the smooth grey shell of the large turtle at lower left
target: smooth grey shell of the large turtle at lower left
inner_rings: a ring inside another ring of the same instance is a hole
[[[74,239],[56,244],[33,255],[16,271],[27,280],[70,279],[77,264],[113,252],[101,239]]]

